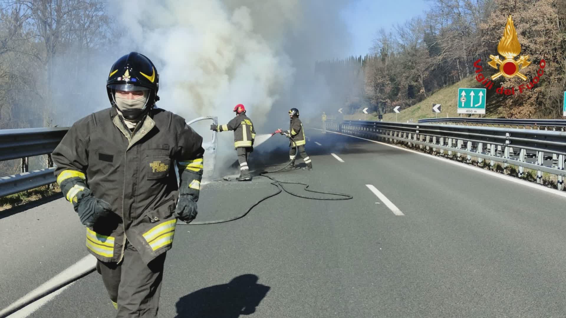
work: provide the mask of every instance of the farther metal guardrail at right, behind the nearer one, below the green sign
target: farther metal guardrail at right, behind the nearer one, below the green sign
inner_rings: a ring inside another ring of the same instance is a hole
[[[504,119],[504,118],[424,118],[419,123],[456,123],[474,125],[522,126],[522,127],[560,127],[564,130],[566,120],[563,119]]]

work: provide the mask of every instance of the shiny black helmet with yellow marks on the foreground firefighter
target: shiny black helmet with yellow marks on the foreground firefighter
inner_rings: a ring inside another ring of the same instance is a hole
[[[159,100],[159,74],[149,58],[138,52],[131,52],[119,58],[110,68],[106,80],[106,91],[110,104],[114,107],[114,93],[118,91],[149,91],[147,102],[143,109],[127,109],[122,114],[126,119],[138,119],[147,114]]]

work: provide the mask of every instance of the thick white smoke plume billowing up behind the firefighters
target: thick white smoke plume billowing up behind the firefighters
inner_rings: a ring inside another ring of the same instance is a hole
[[[315,76],[314,63],[345,57],[349,34],[340,11],[348,3],[110,2],[125,35],[115,45],[121,49],[115,58],[137,50],[152,59],[160,74],[157,105],[187,121],[216,115],[226,123],[241,103],[258,134],[272,132],[286,128],[291,107],[303,116],[324,110],[330,92]],[[233,134],[220,133],[218,140],[224,164],[234,161]]]

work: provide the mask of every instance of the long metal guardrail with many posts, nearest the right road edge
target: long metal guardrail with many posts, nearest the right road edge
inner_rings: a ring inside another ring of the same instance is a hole
[[[558,190],[564,188],[566,132],[563,131],[366,121],[327,122],[327,130],[372,140],[401,142],[410,147],[418,145],[440,154],[447,151],[448,156],[456,152],[457,158],[465,154],[466,162],[472,162],[475,157],[478,164],[489,160],[490,167],[495,162],[501,162],[504,167],[514,165],[518,166],[519,177],[523,177],[525,168],[533,169],[537,171],[537,183],[541,184],[542,173],[546,172],[558,176]],[[536,158],[536,162],[526,162],[529,154]],[[517,158],[513,158],[515,156]],[[552,164],[545,165],[545,158],[552,160]]]

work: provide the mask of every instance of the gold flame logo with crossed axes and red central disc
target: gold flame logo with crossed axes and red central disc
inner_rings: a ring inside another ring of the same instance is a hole
[[[514,59],[521,53],[521,44],[519,43],[517,31],[513,25],[511,15],[507,18],[503,37],[499,40],[497,50],[505,59],[501,61],[499,55],[490,55],[491,61],[487,62],[487,64],[496,70],[499,70],[499,72],[491,76],[491,79],[495,80],[499,78],[499,76],[503,75],[506,78],[518,76],[523,80],[527,80],[527,77],[519,72],[519,70],[529,66],[531,62],[529,61],[529,55],[521,55],[517,61]]]

